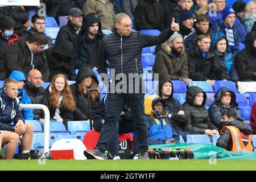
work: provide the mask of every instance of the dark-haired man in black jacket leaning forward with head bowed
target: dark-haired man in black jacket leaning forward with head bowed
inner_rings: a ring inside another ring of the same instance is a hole
[[[27,76],[31,69],[38,69],[42,72],[43,81],[48,81],[49,67],[44,47],[47,38],[43,34],[32,34],[28,37],[20,38],[18,42],[11,45],[7,52],[7,71],[22,71]]]

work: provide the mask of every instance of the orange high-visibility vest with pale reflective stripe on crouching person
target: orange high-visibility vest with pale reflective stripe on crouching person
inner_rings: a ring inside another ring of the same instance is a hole
[[[253,135],[246,135],[246,138],[248,138],[248,143],[245,146],[243,144],[243,138],[241,137],[241,131],[237,127],[224,126],[221,130],[221,134],[225,128],[230,131],[230,134],[232,137],[232,142],[233,142],[233,148],[231,150],[232,152],[242,152],[242,151],[251,152],[251,151],[253,151],[253,145],[251,144],[251,139],[252,139]]]

